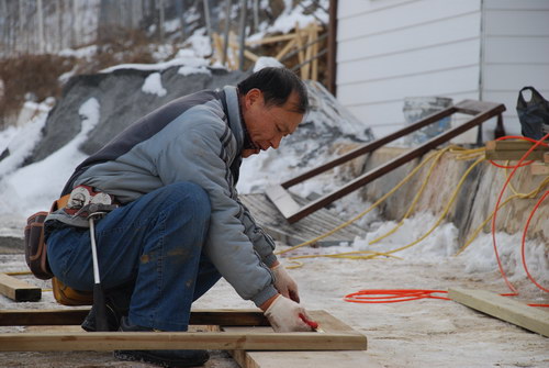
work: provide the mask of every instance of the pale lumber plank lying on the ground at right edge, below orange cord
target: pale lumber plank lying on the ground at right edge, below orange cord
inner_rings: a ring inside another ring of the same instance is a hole
[[[549,337],[549,313],[485,290],[449,289],[451,300]]]

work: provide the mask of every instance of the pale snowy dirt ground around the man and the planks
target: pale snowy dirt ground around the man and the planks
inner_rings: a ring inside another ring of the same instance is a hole
[[[0,271],[26,268],[18,246],[0,239]],[[283,259],[282,259],[283,260]],[[549,339],[446,300],[404,303],[357,304],[343,297],[362,289],[448,289],[451,287],[507,292],[496,272],[466,275],[459,258],[444,261],[305,259],[290,270],[300,285],[302,303],[311,310],[326,310],[368,337],[367,354],[383,367],[549,367]],[[21,278],[41,285],[31,277]],[[47,282],[42,285],[47,287]],[[519,300],[549,302],[534,289]],[[60,308],[52,292],[34,303],[14,303],[0,297],[1,309]],[[253,308],[225,281],[219,282],[194,308]],[[0,327],[22,332],[23,327]],[[281,353],[283,354],[283,353]],[[341,361],[340,367],[345,367]],[[1,353],[0,367],[153,367],[117,361],[111,353]],[[226,352],[212,352],[205,367],[237,368]]]

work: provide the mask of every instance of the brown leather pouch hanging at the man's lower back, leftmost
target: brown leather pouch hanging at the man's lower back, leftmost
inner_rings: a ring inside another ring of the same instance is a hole
[[[26,220],[25,226],[25,260],[33,275],[42,280],[48,280],[54,275],[47,264],[46,242],[44,239],[44,220],[47,212],[41,211]]]

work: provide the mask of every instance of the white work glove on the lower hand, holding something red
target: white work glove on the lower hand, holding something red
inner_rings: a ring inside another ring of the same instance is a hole
[[[265,311],[274,332],[312,332],[313,328],[303,319],[311,320],[296,302],[278,295],[277,299]]]

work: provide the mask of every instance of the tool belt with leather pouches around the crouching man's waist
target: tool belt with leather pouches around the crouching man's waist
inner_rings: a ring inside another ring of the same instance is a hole
[[[96,192],[88,186],[76,187],[70,194],[54,201],[49,212],[40,211],[32,214],[24,230],[25,260],[31,272],[38,279],[52,279],[55,300],[64,305],[91,305],[91,291],[75,290],[57,279],[47,263],[46,227],[77,226],[89,227],[89,214],[101,210],[112,211],[117,208],[114,198],[104,192]]]

